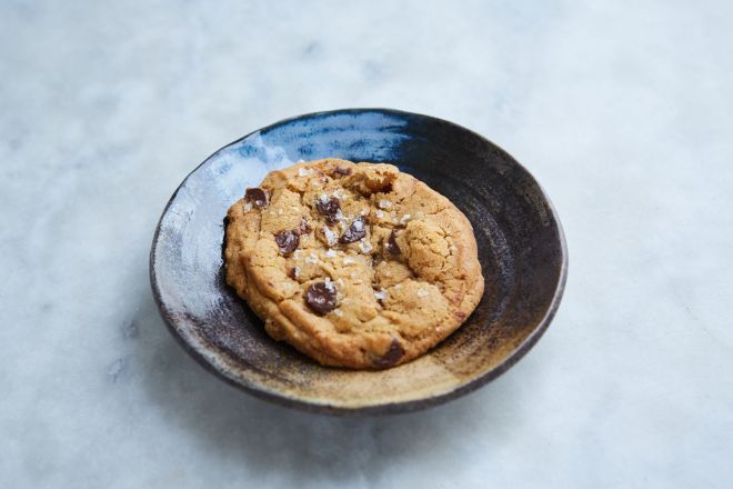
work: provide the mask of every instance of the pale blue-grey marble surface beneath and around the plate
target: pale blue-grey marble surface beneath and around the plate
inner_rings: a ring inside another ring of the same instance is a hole
[[[0,486],[733,486],[733,3],[0,4]],[[298,113],[472,128],[563,220],[560,312],[518,366],[409,416],[220,382],[148,250],[183,177]]]

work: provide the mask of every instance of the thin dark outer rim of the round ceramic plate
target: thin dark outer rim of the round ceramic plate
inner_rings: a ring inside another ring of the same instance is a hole
[[[293,397],[288,397],[283,393],[279,393],[272,390],[267,390],[259,388],[259,386],[255,385],[245,385],[239,381],[239,379],[233,378],[232,376],[229,376],[225,371],[220,370],[214,366],[211,361],[209,361],[205,356],[199,351],[197,348],[194,348],[193,345],[189,343],[183,336],[179,332],[177,328],[177,323],[173,319],[173,315],[170,312],[168,307],[162,300],[162,293],[160,289],[160,285],[158,282],[158,279],[155,277],[155,263],[157,263],[157,248],[158,248],[158,242],[160,238],[160,231],[161,231],[161,224],[164,219],[164,217],[168,214],[168,211],[170,207],[172,206],[173,201],[178,197],[178,192],[185,186],[188,182],[189,178],[193,176],[201,167],[207,164],[209,160],[211,160],[217,153],[221,152],[222,150],[231,147],[232,144],[235,144],[250,136],[258,133],[258,132],[264,132],[268,130],[271,130],[275,127],[299,120],[299,119],[311,119],[314,117],[321,117],[321,116],[329,116],[329,114],[348,114],[348,113],[363,113],[363,112],[379,112],[383,114],[394,114],[394,116],[401,116],[401,117],[416,117],[416,118],[423,118],[423,119],[432,119],[433,121],[438,121],[441,123],[445,123],[452,127],[455,127],[462,131],[466,131],[471,134],[473,134],[476,138],[480,138],[481,140],[484,140],[489,144],[491,144],[493,148],[499,150],[504,157],[508,157],[509,160],[511,160],[514,164],[518,166],[519,170],[524,173],[525,177],[529,177],[531,181],[536,184],[540,193],[542,194],[543,199],[545,200],[548,208],[550,209],[550,212],[554,219],[555,226],[558,228],[558,238],[560,241],[560,247],[559,251],[561,255],[561,266],[560,266],[560,277],[558,280],[558,285],[555,286],[554,293],[552,296],[552,299],[550,301],[550,305],[548,306],[548,309],[540,320],[540,322],[532,329],[530,335],[520,343],[518,345],[508,356],[506,358],[499,363],[496,367],[493,369],[490,369],[478,377],[471,378],[470,380],[465,381],[464,383],[455,387],[452,390],[449,390],[446,392],[442,392],[435,396],[430,396],[425,398],[420,398],[420,399],[412,399],[403,402],[388,402],[388,403],[375,403],[375,405],[363,405],[359,407],[344,407],[344,406],[334,406],[334,405],[329,405],[329,403],[320,403],[320,402],[314,402],[310,400],[303,400],[299,398],[293,398]],[[168,202],[165,203],[165,207],[163,208],[163,211],[160,214],[160,218],[158,219],[158,222],[155,224],[155,232],[153,233],[153,240],[152,244],[150,247],[150,253],[149,253],[149,279],[150,279],[150,286],[152,289],[152,295],[153,299],[155,301],[155,305],[158,307],[158,310],[160,312],[160,316],[163,319],[163,322],[167,326],[167,329],[170,331],[171,336],[175,338],[177,342],[185,350],[193,359],[202,366],[207,371],[213,373],[217,378],[220,380],[223,380],[224,382],[229,383],[230,386],[233,386],[238,388],[239,390],[243,390],[257,398],[273,402],[279,406],[288,407],[288,408],[295,408],[301,411],[308,411],[308,412],[318,412],[318,413],[325,413],[325,415],[337,415],[337,416],[373,416],[373,415],[394,415],[394,413],[404,413],[404,412],[413,412],[413,411],[419,411],[423,409],[428,409],[438,405],[442,405],[444,402],[448,402],[450,400],[460,398],[462,396],[465,396],[470,392],[475,391],[476,389],[485,386],[490,381],[494,380],[502,373],[504,373],[506,370],[509,370],[511,367],[513,367],[519,360],[521,360],[533,347],[534,345],[542,338],[544,332],[548,330],[550,327],[550,323],[554,319],[558,309],[560,308],[560,303],[562,301],[562,297],[565,290],[565,285],[568,281],[568,266],[569,266],[569,257],[568,257],[568,243],[565,240],[565,233],[562,227],[562,223],[560,221],[560,216],[558,216],[558,211],[552,203],[552,200],[548,196],[546,191],[544,188],[540,184],[540,182],[534,178],[534,176],[520,162],[518,161],[514,157],[512,157],[508,151],[505,151],[502,147],[499,144],[494,143],[493,141],[489,140],[484,136],[481,136],[480,133],[465,128],[463,126],[460,126],[455,122],[451,122],[446,119],[442,119],[439,117],[434,116],[428,116],[424,113],[419,113],[419,112],[410,112],[405,110],[399,110],[399,109],[389,109],[389,108],[348,108],[348,109],[334,109],[334,110],[324,110],[324,111],[317,111],[317,112],[308,112],[308,113],[302,113],[300,116],[294,116],[294,117],[289,117],[285,119],[278,120],[273,123],[270,123],[268,126],[264,126],[260,129],[255,129],[251,132],[248,132],[247,134],[233,140],[232,142],[229,142],[221,148],[217,149],[214,152],[212,152],[210,156],[203,159],[201,163],[199,163],[195,168],[193,168],[187,176],[185,178],[181,181],[181,183],[177,187],[175,191],[171,194],[171,197],[168,199]]]

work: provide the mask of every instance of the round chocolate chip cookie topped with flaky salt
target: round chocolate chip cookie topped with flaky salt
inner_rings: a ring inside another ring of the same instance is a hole
[[[224,259],[267,332],[325,366],[410,361],[483,295],[469,220],[391,164],[324,159],[268,173],[229,209]]]

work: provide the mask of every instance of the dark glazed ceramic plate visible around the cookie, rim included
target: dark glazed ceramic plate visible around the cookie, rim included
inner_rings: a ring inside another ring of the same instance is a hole
[[[298,160],[390,162],[451,199],[473,224],[481,303],[425,356],[382,371],[325,368],[272,340],[223,279],[223,217],[245,187]],[[434,406],[495,378],[536,342],[568,270],[560,221],[532,176],[481,136],[428,116],[349,109],[288,119],[222,148],[171,197],[150,278],[173,336],[201,365],[255,396],[324,413]]]

